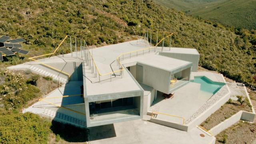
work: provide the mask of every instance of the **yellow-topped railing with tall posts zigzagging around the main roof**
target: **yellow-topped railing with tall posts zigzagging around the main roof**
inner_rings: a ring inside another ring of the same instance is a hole
[[[67,47],[67,45],[69,45],[68,43],[70,43],[70,46],[68,46],[69,48],[69,52],[71,52],[71,55],[73,57],[73,53],[76,55],[76,58],[78,58],[78,55],[81,54],[82,56],[82,60],[86,62],[86,66],[89,66],[90,70],[92,71],[92,73],[94,74],[94,77],[97,78],[98,80],[94,81],[94,82],[100,82],[102,80],[107,80],[107,79],[112,79],[113,76],[116,77],[118,76],[116,73],[120,73],[119,76],[123,76],[123,71],[124,71],[124,67],[122,66],[122,64],[120,63],[120,60],[124,60],[124,58],[131,58],[132,56],[138,56],[140,54],[147,54],[150,52],[156,52],[159,49],[157,48],[157,46],[162,43],[162,49],[161,51],[163,51],[163,47],[164,47],[164,40],[166,38],[170,38],[170,45],[169,45],[169,50],[170,50],[170,46],[171,46],[171,38],[173,33],[169,33],[169,32],[160,32],[160,31],[156,31],[156,30],[145,30],[144,33],[142,34],[142,39],[150,42],[150,45],[152,45],[152,41],[153,41],[153,37],[152,37],[152,32],[156,32],[156,45],[155,46],[150,46],[148,48],[143,48],[141,50],[136,50],[136,51],[132,51],[132,52],[126,52],[126,53],[122,53],[120,54],[117,58],[116,58],[116,63],[118,66],[118,70],[112,70],[112,72],[108,72],[105,74],[100,73],[99,68],[96,64],[96,61],[93,57],[92,52],[90,51],[90,48],[87,46],[86,41],[82,40],[80,38],[76,38],[73,36],[69,36],[67,35],[62,42],[58,45],[58,47],[54,50],[54,52],[50,53],[50,54],[44,54],[44,55],[40,55],[40,56],[34,56],[29,58],[30,60],[34,60],[35,62],[38,62],[48,68],[51,68],[53,70],[56,70],[57,72],[60,72],[62,74],[65,74],[68,76],[69,80],[70,80],[70,74],[63,72],[62,70],[58,70],[52,66],[49,66],[47,64],[44,64],[43,62],[36,60],[36,58],[41,58],[43,56],[49,56],[51,57],[52,55],[56,54],[58,49],[64,45]],[[158,32],[163,34],[163,37],[158,37]],[[149,34],[150,33],[150,34]],[[164,36],[166,33],[168,33],[167,36]],[[162,38],[159,42],[158,42],[158,38]],[[64,41],[67,40],[68,42],[64,44]],[[146,43],[146,42],[145,42]],[[104,77],[104,79],[102,78]]]

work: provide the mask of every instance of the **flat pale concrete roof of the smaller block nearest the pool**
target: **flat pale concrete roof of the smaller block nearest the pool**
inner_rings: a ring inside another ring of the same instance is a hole
[[[126,58],[121,61],[121,64],[128,64],[132,62],[139,62],[156,68],[160,68],[167,71],[176,70],[177,68],[192,64],[192,62],[178,60],[175,58],[169,58],[166,56],[160,56],[155,53],[144,54],[138,57]]]

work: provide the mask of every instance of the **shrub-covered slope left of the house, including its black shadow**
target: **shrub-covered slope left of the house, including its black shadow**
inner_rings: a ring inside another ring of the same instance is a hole
[[[88,141],[87,129],[55,121],[51,123],[32,113],[19,113],[28,102],[43,94],[38,87],[42,77],[28,71],[25,73],[0,71],[0,144],[46,144],[54,139],[49,135],[56,137],[56,141]]]

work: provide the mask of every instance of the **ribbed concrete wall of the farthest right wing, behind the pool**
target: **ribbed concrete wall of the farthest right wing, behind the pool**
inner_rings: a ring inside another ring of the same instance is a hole
[[[196,72],[198,68],[198,62],[199,62],[199,54],[179,54],[179,53],[170,53],[170,52],[159,52],[158,53],[161,56],[167,56],[170,58],[176,58],[179,60],[185,60],[188,62],[192,62],[192,72]]]

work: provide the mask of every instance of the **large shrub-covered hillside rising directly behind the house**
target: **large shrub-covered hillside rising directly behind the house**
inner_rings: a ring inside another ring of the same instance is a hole
[[[149,0],[4,1],[0,2],[0,13],[0,35],[23,37],[29,56],[52,52],[66,34],[97,46],[123,42],[142,34],[143,28],[162,29],[174,32],[173,46],[196,48],[200,66],[254,86],[255,31],[234,33]],[[5,59],[4,64],[24,60]]]

